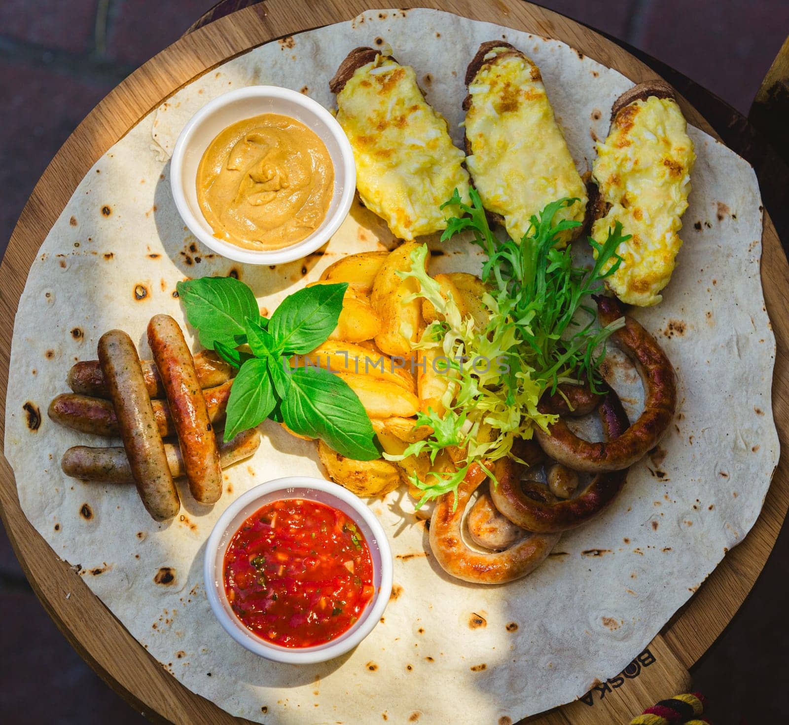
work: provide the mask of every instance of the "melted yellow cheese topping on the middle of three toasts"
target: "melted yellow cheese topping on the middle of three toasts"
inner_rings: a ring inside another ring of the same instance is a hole
[[[563,197],[579,201],[560,209],[561,219],[581,221],[586,190],[553,115],[540,69],[511,48],[494,48],[469,85],[466,166],[490,212],[503,216],[512,239],[522,239],[529,220]],[[571,231],[563,233],[567,242]]]

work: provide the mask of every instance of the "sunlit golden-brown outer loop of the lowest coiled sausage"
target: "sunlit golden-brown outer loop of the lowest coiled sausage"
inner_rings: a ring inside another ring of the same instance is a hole
[[[509,458],[493,464],[493,474],[499,483],[517,479],[520,469],[521,466]],[[436,501],[430,520],[430,548],[436,562],[453,577],[477,584],[502,584],[525,577],[537,569],[559,541],[559,534],[531,535],[504,551],[470,549],[463,541],[463,514],[469,498],[486,478],[481,466],[472,464],[466,479],[458,486],[457,507],[454,506],[452,492],[443,494]]]

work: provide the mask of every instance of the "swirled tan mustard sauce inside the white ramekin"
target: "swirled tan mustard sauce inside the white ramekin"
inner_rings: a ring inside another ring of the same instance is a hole
[[[334,182],[317,134],[295,118],[267,113],[211,141],[197,169],[197,201],[218,239],[277,250],[320,227]]]

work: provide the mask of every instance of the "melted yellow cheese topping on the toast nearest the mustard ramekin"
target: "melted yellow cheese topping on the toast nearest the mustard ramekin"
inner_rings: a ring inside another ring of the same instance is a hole
[[[458,210],[439,207],[455,188],[469,201],[469,175],[463,152],[452,144],[446,120],[424,100],[413,68],[378,55],[353,73],[337,105],[365,206],[401,239],[446,229]]]

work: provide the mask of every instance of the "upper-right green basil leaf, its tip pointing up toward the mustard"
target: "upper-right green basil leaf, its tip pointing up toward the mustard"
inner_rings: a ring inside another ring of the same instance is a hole
[[[283,299],[268,323],[279,349],[304,355],[326,342],[337,327],[347,288],[347,282],[316,284]]]

